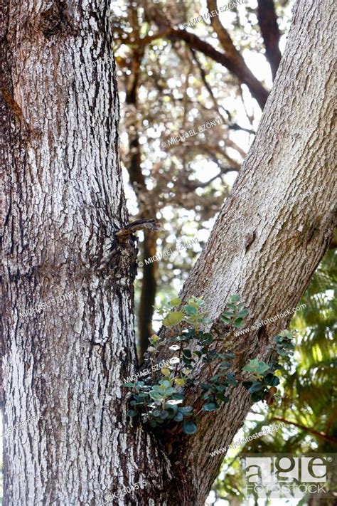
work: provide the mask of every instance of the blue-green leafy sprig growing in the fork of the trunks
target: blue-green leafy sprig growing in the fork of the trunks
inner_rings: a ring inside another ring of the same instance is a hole
[[[157,381],[151,378],[135,383],[124,384],[132,389],[130,417],[138,417],[141,423],[149,424],[156,431],[163,429],[181,430],[186,434],[193,434],[197,430],[196,418],[201,411],[216,411],[230,399],[228,389],[239,385],[235,374],[230,372],[236,355],[230,350],[218,351],[217,344],[223,348],[224,339],[215,338],[210,332],[201,330],[201,325],[209,323],[208,313],[204,310],[204,301],[201,297],[191,297],[182,307],[181,299],[174,297],[159,307],[158,312],[163,317],[163,325],[173,331],[169,338],[172,351],[178,352],[176,364],[161,369],[161,377]],[[232,295],[221,315],[221,320],[226,327],[238,328],[245,325],[245,317],[249,310],[240,302],[239,295]],[[291,332],[281,332],[275,337],[276,349],[283,355],[293,349],[290,342]],[[164,342],[154,334],[150,339],[148,352],[153,356],[159,352]],[[193,377],[196,362],[207,364],[209,379],[207,382],[198,384]],[[267,401],[272,404],[276,393],[276,385],[279,378],[274,371],[279,369],[277,362],[265,364],[257,359],[250,360],[243,370],[252,376],[242,384],[250,391],[252,400]],[[242,380],[241,380],[242,381]],[[191,406],[179,406],[183,404],[185,386],[198,387],[201,390],[203,405],[196,413]],[[191,418],[193,417],[193,418]],[[188,418],[186,420],[186,418]],[[191,418],[191,419],[190,419]]]

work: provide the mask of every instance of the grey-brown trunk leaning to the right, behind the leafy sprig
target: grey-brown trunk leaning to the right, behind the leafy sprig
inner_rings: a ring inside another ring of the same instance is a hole
[[[337,196],[333,21],[333,1],[296,3],[257,137],[184,285],[183,299],[203,295],[215,322],[232,293],[252,311],[247,325],[291,310],[331,243]],[[321,185],[325,189],[316,191]],[[237,352],[235,371],[240,371],[248,359],[269,358],[267,345],[290,318],[240,337],[223,334],[219,323],[213,330],[224,335],[225,348]],[[163,357],[169,356],[165,350]],[[207,369],[200,368],[198,380],[207,377]],[[196,391],[186,393],[186,403],[198,408]],[[209,453],[231,443],[249,409],[247,391],[235,389],[224,409],[203,415],[196,436],[173,443],[171,461],[188,477],[186,490],[181,489],[184,504],[203,505],[223,460]]]

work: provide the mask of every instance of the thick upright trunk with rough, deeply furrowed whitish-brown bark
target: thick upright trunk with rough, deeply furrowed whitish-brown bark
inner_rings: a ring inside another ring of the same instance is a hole
[[[127,213],[109,2],[2,3],[1,40],[4,504],[100,505],[152,468],[128,496],[144,504],[165,458],[120,386],[137,367],[136,251],[114,235]]]

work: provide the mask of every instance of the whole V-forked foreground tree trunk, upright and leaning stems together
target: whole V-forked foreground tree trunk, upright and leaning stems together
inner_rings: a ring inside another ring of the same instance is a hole
[[[202,505],[222,458],[209,452],[230,443],[250,408],[235,391],[169,456],[127,419],[119,381],[137,369],[135,248],[115,235],[127,214],[108,6],[15,0],[1,12],[5,506],[100,505],[143,479],[113,504]],[[296,5],[255,144],[184,288],[215,320],[232,292],[252,309],[248,325],[294,307],[328,247],[332,7]],[[288,320],[227,339],[243,363],[266,357]]]

